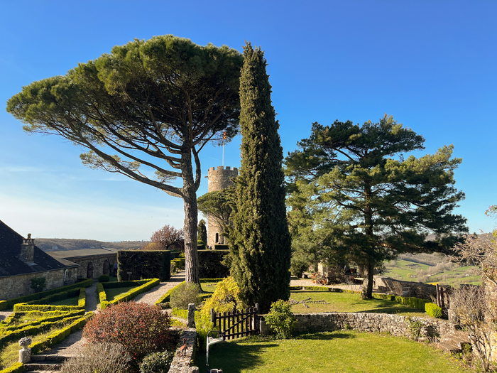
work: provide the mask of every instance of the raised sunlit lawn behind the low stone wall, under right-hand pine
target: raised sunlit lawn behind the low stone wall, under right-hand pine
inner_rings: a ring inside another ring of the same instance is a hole
[[[400,303],[385,301],[383,299],[361,299],[359,294],[332,293],[329,291],[306,291],[295,290],[290,292],[290,298],[295,301],[303,301],[311,298],[311,301],[326,301],[329,304],[307,303],[309,308],[302,304],[292,306],[293,313],[317,313],[317,312],[362,312],[362,313],[395,313],[405,316],[430,317],[424,310],[409,308]]]

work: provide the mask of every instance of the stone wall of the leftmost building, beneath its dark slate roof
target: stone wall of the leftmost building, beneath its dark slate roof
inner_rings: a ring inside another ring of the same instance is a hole
[[[33,274],[0,277],[0,301],[34,293],[31,288],[31,279],[45,277],[46,285],[43,290],[51,290],[53,288],[60,288],[60,286],[75,283],[77,279],[76,270],[76,268],[55,269],[53,271],[36,272]],[[67,273],[65,273],[65,271],[67,271]]]

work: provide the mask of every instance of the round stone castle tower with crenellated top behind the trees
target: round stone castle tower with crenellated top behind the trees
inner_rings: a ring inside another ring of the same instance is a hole
[[[214,190],[222,190],[234,185],[231,178],[236,178],[238,176],[238,169],[236,167],[230,168],[229,166],[224,168],[223,166],[217,166],[217,168],[211,167],[207,173],[207,180],[209,181],[208,191],[213,192]],[[216,244],[226,244],[225,238],[222,236],[222,227],[219,227],[217,222],[211,217],[207,217],[207,246],[214,249]]]

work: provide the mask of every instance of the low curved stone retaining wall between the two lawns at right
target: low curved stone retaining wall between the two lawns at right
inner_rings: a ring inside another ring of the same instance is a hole
[[[261,315],[263,318],[263,315]],[[302,313],[295,314],[299,333],[332,332],[334,330],[351,329],[361,332],[388,333],[398,337],[409,337],[406,316],[386,313]],[[412,318],[424,325],[422,335],[439,337],[454,331],[454,325],[447,320]]]

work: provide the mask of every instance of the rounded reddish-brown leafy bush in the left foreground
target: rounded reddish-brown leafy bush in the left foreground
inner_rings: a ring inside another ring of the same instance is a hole
[[[176,344],[169,316],[156,306],[136,302],[101,310],[85,325],[83,337],[89,342],[124,345],[135,362],[150,352],[173,350]]]

